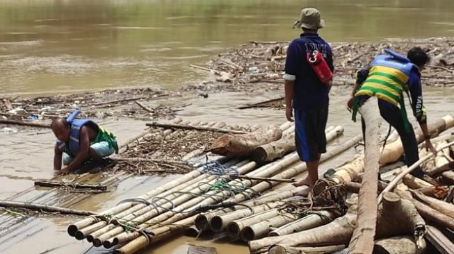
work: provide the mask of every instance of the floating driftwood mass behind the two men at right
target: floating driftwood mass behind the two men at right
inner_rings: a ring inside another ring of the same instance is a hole
[[[289,42],[250,42],[237,49],[219,54],[206,67],[193,66],[211,71],[213,79],[186,90],[277,90],[282,87],[286,49]],[[431,57],[430,65],[423,70],[423,84],[437,87],[454,87],[454,39],[451,37],[425,40],[382,40],[379,42],[334,42],[334,83],[352,85],[356,72],[368,65],[383,49],[392,49],[406,55],[412,46],[421,46]],[[221,78],[221,77],[229,78]],[[277,101],[247,105],[245,108],[276,105]]]

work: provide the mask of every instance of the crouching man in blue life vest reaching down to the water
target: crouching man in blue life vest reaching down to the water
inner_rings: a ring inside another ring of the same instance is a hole
[[[54,149],[56,175],[71,173],[88,160],[118,153],[117,140],[112,133],[89,119],[74,120],[77,114],[79,111],[67,119],[58,118],[51,123],[52,132],[57,137]]]

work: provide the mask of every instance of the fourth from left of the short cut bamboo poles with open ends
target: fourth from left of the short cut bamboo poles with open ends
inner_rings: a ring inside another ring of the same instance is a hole
[[[241,230],[241,239],[243,242],[249,242],[254,239],[266,237],[272,228],[279,228],[288,223],[296,221],[299,218],[297,214],[284,213],[279,214],[276,217],[267,219],[266,221],[260,221],[250,226],[245,227]]]

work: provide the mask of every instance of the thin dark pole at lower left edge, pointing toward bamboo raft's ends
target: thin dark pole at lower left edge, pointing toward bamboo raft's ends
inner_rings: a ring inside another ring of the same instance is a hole
[[[59,208],[53,205],[42,205],[37,203],[26,203],[26,202],[19,202],[19,201],[0,201],[0,207],[3,208],[24,208],[29,210],[38,210],[38,211],[45,211],[45,212],[59,212],[60,214],[74,214],[74,215],[82,215],[82,216],[90,216],[90,215],[97,215],[96,212],[92,211],[82,211],[82,210],[74,210],[70,208]]]

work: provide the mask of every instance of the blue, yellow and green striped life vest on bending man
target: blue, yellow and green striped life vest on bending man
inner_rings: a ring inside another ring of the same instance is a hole
[[[412,69],[417,68],[408,58],[389,49],[389,55],[377,56],[371,63],[366,81],[362,83],[356,96],[377,96],[394,105],[400,104],[403,91],[407,92],[407,82]]]

